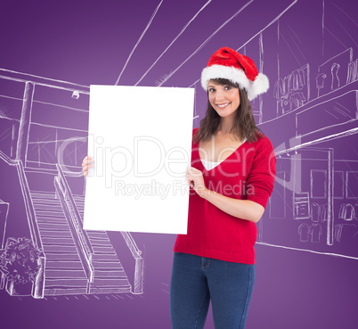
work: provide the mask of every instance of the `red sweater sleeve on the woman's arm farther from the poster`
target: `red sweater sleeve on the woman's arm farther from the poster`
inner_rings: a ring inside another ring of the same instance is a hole
[[[246,180],[247,200],[261,204],[266,208],[268,199],[273,193],[273,182],[276,177],[276,157],[273,144],[264,137],[257,144],[252,167]]]

